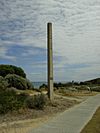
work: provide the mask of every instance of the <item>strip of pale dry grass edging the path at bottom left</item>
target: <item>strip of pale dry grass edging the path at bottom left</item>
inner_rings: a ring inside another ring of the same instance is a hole
[[[0,128],[0,133],[27,133],[32,128],[38,127],[40,124],[48,120],[48,117],[38,118],[34,120],[24,120],[16,123],[6,123]],[[38,124],[37,124],[38,123]]]

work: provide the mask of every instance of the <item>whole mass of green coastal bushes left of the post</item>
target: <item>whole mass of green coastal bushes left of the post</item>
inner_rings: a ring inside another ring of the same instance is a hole
[[[43,94],[33,97],[20,91],[33,89],[22,68],[0,65],[0,114],[27,108],[43,109],[46,101]]]

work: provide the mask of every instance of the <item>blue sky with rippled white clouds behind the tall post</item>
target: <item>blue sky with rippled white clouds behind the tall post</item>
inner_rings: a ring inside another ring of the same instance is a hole
[[[45,81],[47,22],[53,23],[55,81],[100,77],[100,0],[0,0],[0,64]]]

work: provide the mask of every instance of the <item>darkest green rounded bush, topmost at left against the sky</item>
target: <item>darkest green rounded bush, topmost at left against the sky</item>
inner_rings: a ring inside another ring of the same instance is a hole
[[[5,77],[8,74],[16,74],[21,77],[26,78],[26,74],[24,70],[20,67],[13,66],[13,65],[0,65],[0,76]]]

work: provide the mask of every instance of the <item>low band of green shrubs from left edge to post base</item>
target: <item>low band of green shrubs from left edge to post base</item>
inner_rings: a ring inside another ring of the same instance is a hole
[[[39,94],[30,97],[28,94],[17,94],[14,90],[0,91],[0,114],[17,111],[21,108],[44,109],[45,95]]]

